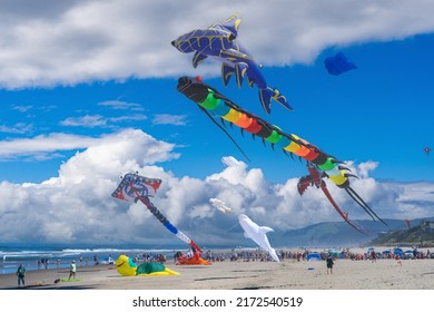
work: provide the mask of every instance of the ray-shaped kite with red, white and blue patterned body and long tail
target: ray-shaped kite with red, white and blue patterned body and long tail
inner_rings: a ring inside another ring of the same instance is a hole
[[[160,184],[161,179],[159,178],[148,178],[138,174],[126,174],[111,196],[134,203],[140,201],[167,230],[201,253],[200,247],[186,234],[176,228],[150,202],[149,196],[156,194]]]

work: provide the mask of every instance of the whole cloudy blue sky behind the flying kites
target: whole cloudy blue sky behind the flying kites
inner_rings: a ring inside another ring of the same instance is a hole
[[[181,76],[345,162],[382,218],[433,216],[433,11],[424,0],[2,0],[0,242],[174,243],[140,203],[111,197],[128,172],[162,179],[154,203],[199,245],[239,238],[239,213],[280,232],[341,221],[320,191],[298,195],[304,162],[227,127],[245,158],[177,91]],[[256,87],[224,86],[218,60],[193,68],[170,45],[234,13],[237,40],[294,111],[275,103],[266,115]],[[357,69],[329,75],[337,52]],[[368,218],[327,185],[351,218]]]

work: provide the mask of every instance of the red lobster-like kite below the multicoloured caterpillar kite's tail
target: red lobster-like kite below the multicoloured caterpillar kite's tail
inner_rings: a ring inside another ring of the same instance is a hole
[[[307,162],[307,169],[309,170],[309,175],[304,176],[298,181],[297,184],[298,194],[302,196],[305,193],[307,187],[315,185],[317,188],[320,188],[323,191],[323,193],[326,195],[327,199],[331,202],[333,207],[344,218],[346,223],[348,223],[358,232],[366,234],[348,220],[348,214],[341,211],[339,206],[333,199],[332,194],[328,192],[327,185],[323,179],[323,177],[326,177],[327,175],[324,172],[319,173],[319,170],[309,162]]]

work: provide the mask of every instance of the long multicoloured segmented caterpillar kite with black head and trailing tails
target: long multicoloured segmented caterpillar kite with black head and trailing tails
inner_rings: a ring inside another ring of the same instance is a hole
[[[351,187],[348,177],[349,169],[346,168],[343,162],[336,159],[334,156],[326,154],[315,145],[307,140],[299,138],[294,134],[286,134],[279,127],[274,126],[256,115],[240,108],[238,105],[226,98],[213,87],[203,81],[195,80],[189,77],[181,77],[178,79],[178,91],[195,101],[198,107],[223,130],[225,130],[211,116],[220,117],[221,121],[229,121],[230,125],[236,125],[241,128],[241,134],[248,131],[255,136],[260,137],[263,143],[268,142],[272,148],[275,146],[289,156],[297,155],[300,159],[312,163],[318,170],[323,172],[336,186],[345,189],[345,192],[355,201],[374,221],[379,218],[374,211],[367,205],[363,198]],[[229,134],[225,130],[226,135]],[[230,136],[229,136],[230,137]],[[236,144],[236,142],[230,137]],[[237,145],[239,148],[239,146]],[[240,148],[239,148],[240,149]],[[240,149],[241,150],[241,149]],[[243,152],[243,150],[241,150]]]

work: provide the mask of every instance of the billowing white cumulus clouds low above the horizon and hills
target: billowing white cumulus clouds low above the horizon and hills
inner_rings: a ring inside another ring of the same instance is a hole
[[[45,138],[33,139],[39,143]],[[249,168],[231,156],[221,159],[220,172],[199,179],[167,172],[165,163],[179,157],[175,146],[141,130],[125,129],[87,142],[86,149],[59,167],[58,176],[39,184],[0,183],[0,241],[177,243],[141,203],[111,197],[119,176],[128,172],[161,178],[152,198],[155,205],[180,231],[208,245],[243,241],[236,218],[239,213],[276,231],[341,221],[319,189],[309,188],[300,197],[296,188],[298,177],[272,183],[262,169]],[[361,172],[366,168],[366,164],[353,166]],[[368,218],[345,192],[329,181],[327,185],[352,218]],[[354,179],[353,187],[383,218],[431,216],[432,183],[379,183],[364,176]],[[210,197],[225,201],[233,214],[213,208],[208,204]]]

